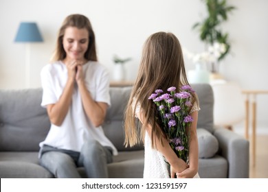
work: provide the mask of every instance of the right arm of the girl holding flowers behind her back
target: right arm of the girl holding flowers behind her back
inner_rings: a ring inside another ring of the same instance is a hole
[[[190,126],[189,168],[177,173],[177,178],[193,178],[198,171],[198,140],[197,140],[197,110],[191,113],[192,124]]]

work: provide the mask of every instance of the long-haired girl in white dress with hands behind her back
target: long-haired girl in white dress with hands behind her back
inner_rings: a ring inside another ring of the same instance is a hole
[[[189,165],[178,158],[170,147],[166,136],[155,117],[155,104],[148,97],[156,90],[166,91],[189,85],[179,40],[174,34],[158,32],[152,34],[144,45],[137,80],[125,113],[125,145],[144,142],[144,178],[199,178],[197,117],[198,99],[192,95],[190,115]],[[135,118],[139,121],[135,121]],[[170,170],[168,170],[168,164]]]

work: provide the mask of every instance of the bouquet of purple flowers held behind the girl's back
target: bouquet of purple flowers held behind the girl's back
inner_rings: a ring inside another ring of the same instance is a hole
[[[194,91],[188,85],[181,86],[181,92],[175,92],[176,87],[168,88],[168,93],[157,89],[148,99],[153,99],[157,106],[157,119],[166,133],[170,147],[179,158],[188,163],[190,125],[193,121],[189,115]]]

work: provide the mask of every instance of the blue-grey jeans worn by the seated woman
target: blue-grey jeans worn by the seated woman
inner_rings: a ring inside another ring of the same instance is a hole
[[[56,178],[81,178],[77,167],[85,167],[88,178],[108,178],[107,163],[111,162],[111,147],[103,147],[95,140],[85,142],[81,152],[49,145],[44,145],[41,149],[41,165]]]

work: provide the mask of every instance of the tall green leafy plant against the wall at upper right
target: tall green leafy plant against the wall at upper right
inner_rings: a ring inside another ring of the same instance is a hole
[[[199,30],[199,38],[205,43],[206,46],[212,46],[214,43],[225,45],[225,51],[221,53],[218,61],[222,60],[230,52],[230,42],[228,40],[228,33],[222,32],[221,23],[227,21],[229,14],[232,10],[236,9],[232,5],[227,5],[226,0],[202,0],[205,1],[208,10],[208,17],[203,21],[195,23],[193,29]],[[210,71],[215,73],[217,71],[217,62],[213,62]]]

